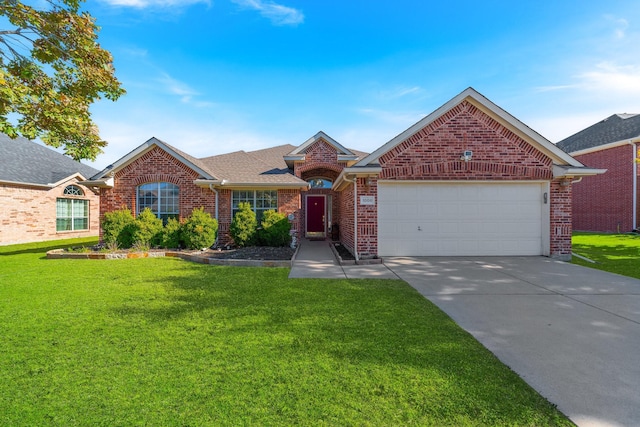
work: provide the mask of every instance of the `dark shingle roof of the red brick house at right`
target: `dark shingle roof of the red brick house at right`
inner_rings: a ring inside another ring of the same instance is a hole
[[[638,136],[640,136],[640,114],[614,114],[563,139],[556,145],[567,153],[574,153]]]

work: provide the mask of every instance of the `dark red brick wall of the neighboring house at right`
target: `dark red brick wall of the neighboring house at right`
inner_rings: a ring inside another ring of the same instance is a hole
[[[623,145],[575,156],[582,164],[607,169],[573,185],[573,228],[579,231],[628,232],[633,224],[633,159],[636,149]],[[638,168],[640,169],[640,168]]]

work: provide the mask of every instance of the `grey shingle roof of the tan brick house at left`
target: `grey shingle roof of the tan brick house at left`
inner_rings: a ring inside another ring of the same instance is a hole
[[[11,139],[0,133],[0,181],[46,186],[76,174],[88,178],[96,172],[26,138]]]

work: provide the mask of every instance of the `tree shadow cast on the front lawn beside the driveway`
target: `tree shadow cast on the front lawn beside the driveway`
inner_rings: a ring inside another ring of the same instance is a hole
[[[391,411],[410,405],[434,419],[438,411],[450,412],[442,418],[449,423],[484,416],[487,424],[547,425],[560,417],[405,282],[287,275],[288,269],[198,266],[184,276],[153,279],[165,289],[162,303],[141,299],[115,311],[132,325],[142,317],[173,337],[206,342],[212,357],[229,364],[225,369],[243,366],[243,377],[255,378],[246,381],[256,381],[259,390],[285,381],[301,390],[312,384],[306,393],[321,394],[320,387],[339,384],[346,401],[364,396],[383,405],[389,399],[399,405]],[[520,398],[503,398],[513,390]],[[291,393],[282,398],[292,399]],[[314,404],[329,405],[334,393]],[[531,422],[523,406],[550,418]]]

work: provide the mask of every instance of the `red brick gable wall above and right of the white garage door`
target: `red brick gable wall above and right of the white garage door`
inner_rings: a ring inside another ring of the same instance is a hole
[[[461,160],[468,150],[472,159]],[[466,101],[385,153],[380,165],[385,180],[553,179],[549,157]],[[563,257],[571,253],[571,189],[551,187],[550,250]]]

